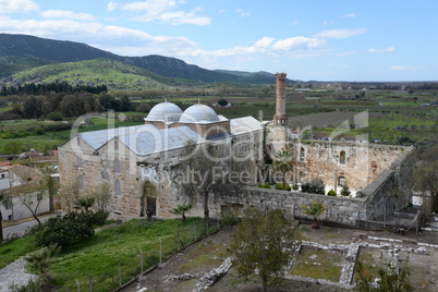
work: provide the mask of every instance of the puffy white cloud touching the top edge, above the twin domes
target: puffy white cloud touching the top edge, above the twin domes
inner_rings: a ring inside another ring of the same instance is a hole
[[[192,10],[192,12],[174,11],[178,4],[184,3],[184,1],[177,2],[174,0],[147,0],[127,3],[121,9],[132,12],[146,12],[146,14],[132,17],[132,20],[142,22],[160,21],[163,23],[170,23],[172,25],[209,25],[211,23],[211,19],[196,15],[196,12],[202,10],[200,8],[195,8]]]

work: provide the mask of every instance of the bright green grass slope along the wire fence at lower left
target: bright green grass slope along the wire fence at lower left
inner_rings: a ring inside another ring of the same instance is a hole
[[[59,253],[51,260],[52,284],[62,291],[76,291],[77,279],[82,288],[88,287],[88,275],[93,278],[94,291],[109,291],[119,285],[118,259],[121,264],[122,282],[127,282],[141,271],[141,253],[144,252],[144,269],[159,263],[160,243],[162,258],[178,250],[177,230],[184,245],[206,234],[200,218],[151,221],[131,220],[115,228],[97,232],[93,238]],[[210,227],[209,231],[215,231]],[[35,251],[34,236],[15,240],[0,246],[0,268],[20,256]]]

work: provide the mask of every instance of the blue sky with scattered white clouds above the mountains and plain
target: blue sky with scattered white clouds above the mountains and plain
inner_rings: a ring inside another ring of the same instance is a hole
[[[0,33],[302,81],[437,81],[437,0],[0,0]]]

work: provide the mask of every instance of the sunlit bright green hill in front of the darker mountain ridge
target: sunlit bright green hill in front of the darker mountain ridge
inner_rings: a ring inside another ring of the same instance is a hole
[[[134,65],[109,59],[56,63],[22,71],[10,77],[11,85],[66,81],[70,84],[106,84],[109,89],[156,89],[178,83]]]

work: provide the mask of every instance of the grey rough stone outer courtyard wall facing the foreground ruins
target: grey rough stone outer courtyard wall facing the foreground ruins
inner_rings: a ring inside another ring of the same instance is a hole
[[[240,194],[221,194],[219,199],[210,204],[210,207],[222,207],[223,209],[227,205],[232,207],[241,206],[243,210],[254,207],[260,211],[280,208],[293,218],[312,220],[313,218],[303,212],[302,205],[307,205],[315,200],[323,202],[328,207],[318,218],[320,221],[356,226],[357,219],[366,218],[365,198],[333,197],[261,187],[246,187]],[[218,204],[220,206],[217,206]]]

